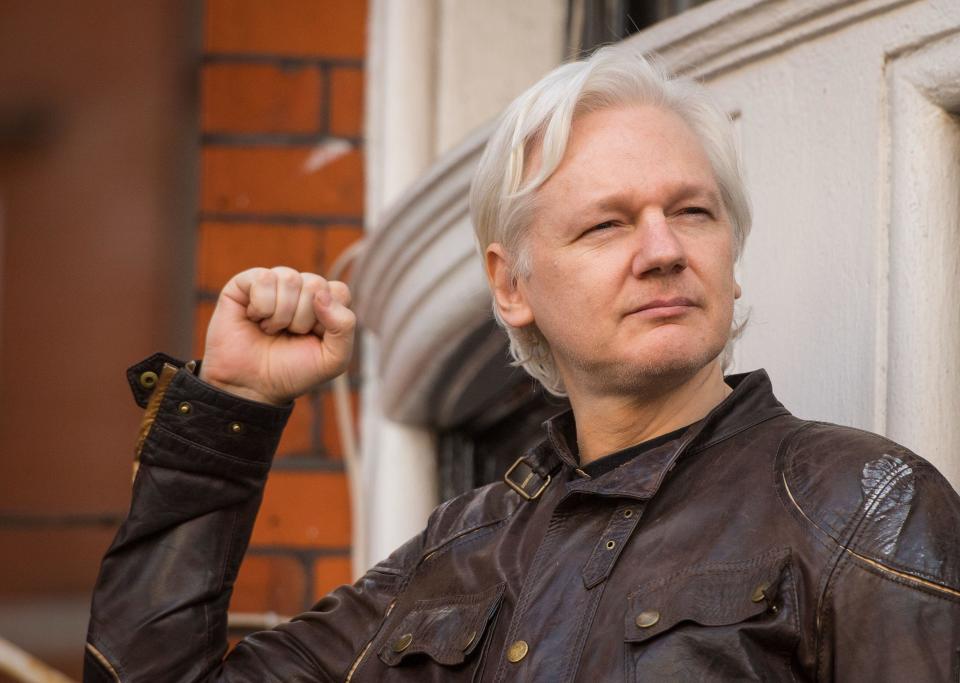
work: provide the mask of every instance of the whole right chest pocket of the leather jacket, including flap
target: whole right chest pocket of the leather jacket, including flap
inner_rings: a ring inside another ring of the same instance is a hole
[[[792,681],[799,639],[790,551],[710,563],[628,596],[628,681]]]

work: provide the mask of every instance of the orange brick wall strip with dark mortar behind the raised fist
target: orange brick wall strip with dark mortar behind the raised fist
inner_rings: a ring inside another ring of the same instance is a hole
[[[207,0],[195,353],[252,266],[325,274],[363,225],[363,0]],[[294,614],[350,580],[332,394],[297,401],[231,609]],[[354,403],[356,405],[356,403]]]

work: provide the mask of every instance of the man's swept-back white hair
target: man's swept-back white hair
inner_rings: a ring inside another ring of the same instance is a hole
[[[730,118],[703,86],[669,76],[658,63],[627,45],[603,47],[587,59],[557,67],[504,111],[470,187],[470,214],[481,254],[499,242],[511,255],[511,276],[529,277],[525,236],[534,195],[563,159],[574,119],[626,104],[662,107],[693,130],[712,166],[733,228],[734,258],[739,258],[751,215]],[[539,152],[539,168],[531,175],[528,160],[534,151]],[[551,393],[564,395],[563,379],[537,326],[512,327],[500,316],[496,302],[493,312],[510,338],[514,364]],[[731,342],[741,327],[734,325]],[[724,352],[724,364],[730,346]]]

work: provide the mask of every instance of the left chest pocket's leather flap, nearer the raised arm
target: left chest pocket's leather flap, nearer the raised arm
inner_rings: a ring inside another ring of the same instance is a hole
[[[380,648],[380,659],[395,666],[407,657],[426,655],[438,664],[462,663],[477,644],[503,597],[503,583],[481,593],[419,600]]]

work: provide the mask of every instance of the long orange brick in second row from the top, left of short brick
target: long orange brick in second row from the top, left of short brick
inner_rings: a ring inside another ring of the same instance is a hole
[[[201,125],[219,133],[314,133],[321,80],[315,67],[209,64],[202,72]]]

